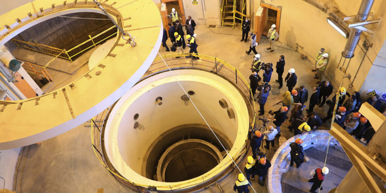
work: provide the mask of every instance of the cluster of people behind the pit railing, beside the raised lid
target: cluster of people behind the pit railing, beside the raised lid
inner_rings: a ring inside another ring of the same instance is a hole
[[[197,42],[196,42],[196,33],[195,33],[195,27],[196,27],[196,22],[191,19],[191,16],[188,16],[188,19],[185,22],[185,31],[186,31],[186,39],[187,42],[185,42],[184,36],[185,32],[182,28],[182,24],[180,23],[181,16],[178,14],[176,9],[172,8],[172,12],[168,15],[169,18],[171,19],[172,23],[168,23],[169,30],[168,32],[164,28],[163,31],[163,38],[162,38],[162,46],[166,48],[166,51],[177,51],[178,53],[183,53],[184,49],[186,46],[188,46],[189,53],[195,53],[198,54],[197,52]],[[168,39],[168,34],[169,34],[169,39],[170,42],[172,43],[171,49],[167,46],[167,39]],[[191,57],[192,59],[200,59],[198,55],[192,54]],[[186,56],[189,58],[190,56]],[[180,57],[176,57],[180,58]]]

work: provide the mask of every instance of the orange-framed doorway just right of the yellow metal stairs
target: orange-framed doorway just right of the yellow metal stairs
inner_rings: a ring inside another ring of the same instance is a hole
[[[281,7],[260,3],[260,7],[255,14],[254,31],[257,36],[256,42],[260,42],[261,36],[267,36],[272,24],[276,25],[276,31],[279,33],[281,12]]]

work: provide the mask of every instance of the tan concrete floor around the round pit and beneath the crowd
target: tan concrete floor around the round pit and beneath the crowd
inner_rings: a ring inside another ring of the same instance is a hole
[[[249,80],[248,77],[251,74],[249,68],[253,54],[249,56],[245,54],[245,50],[249,48],[249,42],[240,42],[241,31],[239,28],[197,26],[195,32],[197,33],[196,40],[199,45],[197,50],[200,54],[214,56],[229,62]],[[168,40],[167,42],[170,47],[170,41]],[[137,40],[137,43],[141,44],[142,42]],[[302,60],[299,52],[279,43],[276,44],[274,52],[269,52],[269,50],[266,50],[268,47],[267,43],[268,40],[262,37],[260,44],[257,46],[257,51],[261,55],[261,61],[272,62],[275,66],[279,56],[284,55],[286,60],[285,72],[289,68],[295,68],[298,77],[296,87],[304,85],[311,95],[312,88],[316,85],[315,82],[317,82],[316,79],[312,78],[312,63],[308,60]],[[185,51],[188,52],[188,49],[185,49]],[[170,52],[166,52],[165,48],[161,46],[160,53],[164,55]],[[286,76],[286,73],[283,76]],[[63,80],[57,78],[56,81],[61,82],[61,84],[67,83],[66,79],[68,77],[63,78]],[[76,78],[72,77],[71,79]],[[282,100],[283,93],[287,91],[285,85],[282,89],[277,89],[278,83],[275,82],[275,79],[277,79],[277,74],[274,71],[271,79],[272,91],[265,106],[266,112],[279,109],[279,106],[272,106]],[[258,104],[256,103],[257,110]],[[322,108],[315,107],[314,111],[318,112],[321,117],[324,117],[327,106],[325,105]],[[99,163],[92,150],[90,128],[85,127],[85,125],[89,125],[89,123],[86,122],[71,131],[48,139],[40,145],[34,144],[30,147],[25,147],[20,166],[18,167],[15,184],[16,192],[134,192],[116,181],[108,170]],[[329,129],[328,121],[321,129]],[[281,130],[282,137],[289,138],[293,135],[286,127],[282,127]],[[269,151],[263,149],[263,151],[267,152],[269,160],[277,148],[278,140],[276,139],[274,148],[271,148]],[[251,151],[248,154],[251,154]],[[307,183],[307,180],[310,178],[309,172],[311,169],[322,166],[325,150],[309,149],[306,151],[306,154],[309,155],[311,161],[305,163],[299,169],[290,168],[288,173],[284,174],[282,182],[283,192],[308,191],[311,187],[311,184]],[[28,160],[26,160],[27,156]],[[321,192],[328,192],[328,188],[336,187],[349,169],[348,165],[350,162],[346,159],[344,153],[329,151],[329,159],[333,157],[339,158],[334,161],[341,163],[339,166],[342,167],[337,166],[337,169],[334,169],[334,171],[339,173],[338,176],[335,176],[335,172],[330,172],[326,176],[326,180],[322,185],[325,189]],[[244,167],[245,158],[239,164],[240,168]],[[327,164],[335,165],[336,163],[327,162]],[[238,173],[239,171],[234,169],[227,177],[218,182],[224,192],[233,192],[233,185]],[[267,187],[258,185],[256,180],[252,182],[252,185],[257,192],[268,192]],[[253,192],[251,188],[250,190]],[[220,191],[212,187],[203,189],[200,192]]]

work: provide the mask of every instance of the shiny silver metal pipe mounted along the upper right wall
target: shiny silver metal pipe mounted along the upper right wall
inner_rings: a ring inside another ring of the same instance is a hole
[[[362,3],[359,7],[357,16],[355,17],[355,23],[357,22],[363,22],[367,20],[367,17],[369,16],[370,10],[373,7],[374,0],[362,0]],[[357,47],[357,44],[359,42],[359,39],[361,37],[362,30],[352,28],[350,31],[350,36],[348,37],[346,46],[344,50],[342,51],[342,56],[344,58],[353,58],[354,57],[354,51]]]

